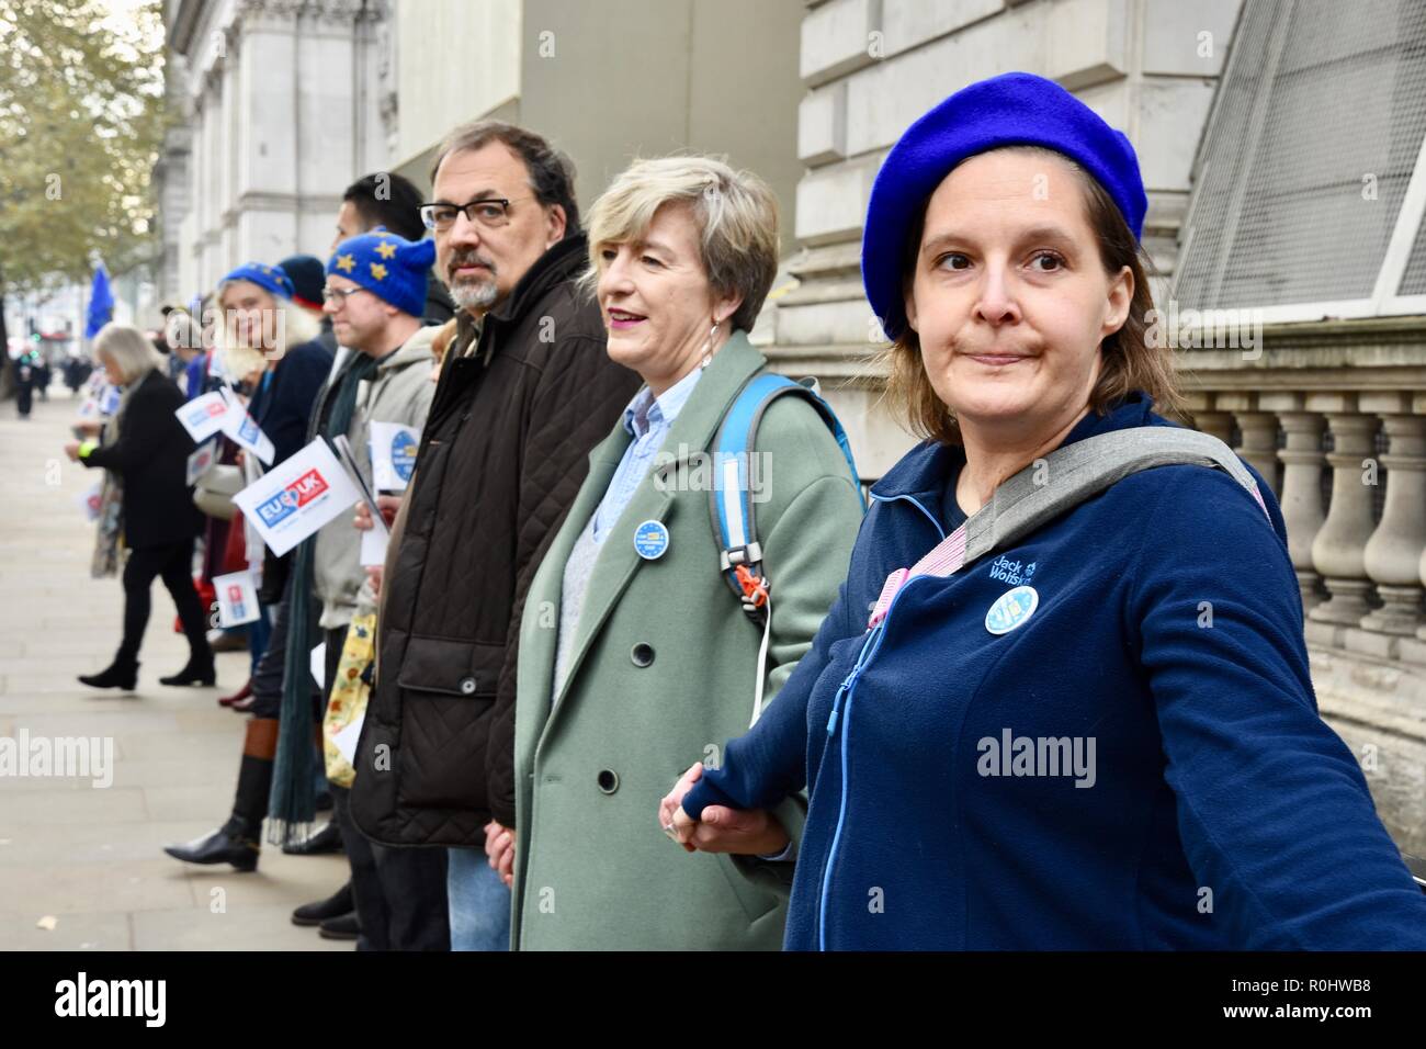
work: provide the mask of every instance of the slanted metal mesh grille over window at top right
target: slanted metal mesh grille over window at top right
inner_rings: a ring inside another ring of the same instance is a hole
[[[1426,3],[1251,0],[1218,91],[1175,298],[1369,298],[1426,136]]]

